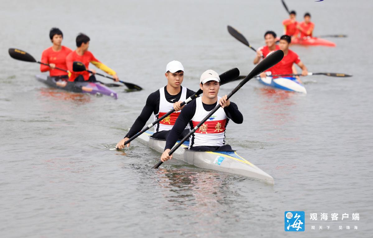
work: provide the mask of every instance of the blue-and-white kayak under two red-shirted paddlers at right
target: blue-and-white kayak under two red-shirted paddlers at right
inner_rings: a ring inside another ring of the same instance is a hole
[[[305,87],[303,84],[299,83],[296,81],[295,78],[292,77],[286,77],[286,78],[275,78],[272,79],[272,77],[257,77],[260,83],[273,87],[275,89],[283,89],[287,91],[293,91],[293,92],[298,92],[298,93],[307,93],[307,90],[305,90]]]

